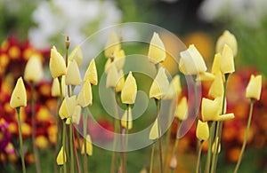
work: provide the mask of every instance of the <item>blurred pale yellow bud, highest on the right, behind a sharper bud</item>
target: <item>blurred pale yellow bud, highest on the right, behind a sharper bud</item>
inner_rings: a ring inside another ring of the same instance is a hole
[[[224,44],[227,44],[231,48],[233,56],[235,57],[238,53],[238,42],[235,35],[232,35],[228,30],[225,30],[223,35],[218,38],[216,43],[216,51],[222,52]]]

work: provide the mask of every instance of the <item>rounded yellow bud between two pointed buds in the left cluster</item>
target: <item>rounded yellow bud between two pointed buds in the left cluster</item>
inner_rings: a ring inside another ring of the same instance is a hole
[[[69,61],[65,83],[67,85],[79,85],[82,83],[79,67],[75,60]]]

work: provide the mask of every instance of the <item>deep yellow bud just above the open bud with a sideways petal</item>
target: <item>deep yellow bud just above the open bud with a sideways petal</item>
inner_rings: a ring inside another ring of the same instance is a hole
[[[215,75],[214,82],[208,90],[208,96],[212,98],[218,98],[223,96],[223,78],[221,74]]]

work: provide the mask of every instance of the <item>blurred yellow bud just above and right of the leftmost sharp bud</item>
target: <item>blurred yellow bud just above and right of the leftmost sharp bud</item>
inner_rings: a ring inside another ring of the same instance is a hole
[[[28,62],[24,71],[24,79],[28,82],[37,83],[43,77],[43,67],[41,58],[37,55],[33,55],[28,59]]]

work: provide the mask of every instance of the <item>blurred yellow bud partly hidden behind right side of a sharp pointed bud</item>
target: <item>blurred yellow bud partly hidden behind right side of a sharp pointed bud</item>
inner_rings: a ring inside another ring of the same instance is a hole
[[[169,84],[165,99],[178,98],[182,92],[180,75],[175,75],[173,81]]]

